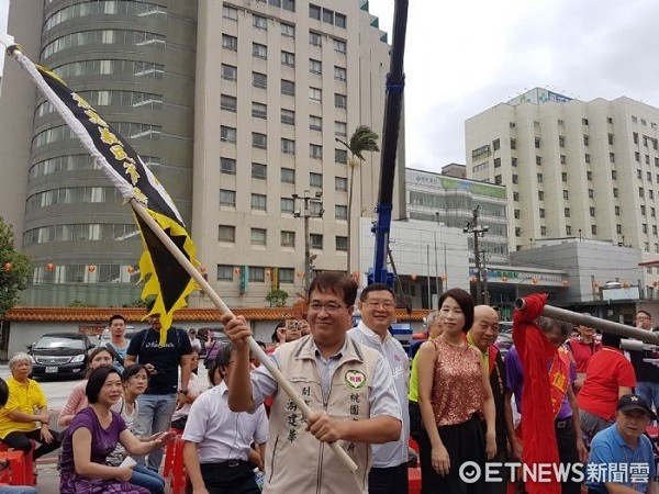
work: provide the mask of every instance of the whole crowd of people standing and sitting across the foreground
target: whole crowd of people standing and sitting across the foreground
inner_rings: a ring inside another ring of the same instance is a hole
[[[353,327],[355,308],[360,322]],[[461,469],[523,461],[521,424],[533,419],[522,401],[535,374],[525,372],[517,348],[505,358],[499,351],[496,308],[474,306],[465,290],[446,291],[426,319],[427,339],[410,353],[390,333],[394,317],[388,285],[371,284],[357,300],[351,278],[319,274],[306,317],[275,328],[272,372],[250,350],[242,316],[222,317],[228,343],[210,334],[204,344],[194,329],[160,335],[157,314],[129,343],[115,315],[111,340],[90,353],[87,379],[59,414],[63,433],[49,427],[30,357],[11,358],[12,377],[0,382],[0,440],[34,459],[62,447],[62,493],[164,493],[159,471],[172,429],[182,435],[196,494],[405,494],[410,445],[418,449],[424,494],[524,492],[514,471],[468,479]],[[645,311],[636,323],[652,329]],[[657,419],[654,356],[628,358],[618,336],[600,339],[590,327],[571,336],[561,321],[538,317],[534,325],[551,349],[543,363],[554,417],[547,440],[556,441],[561,464],[585,465],[582,479],[561,480],[561,492],[655,492],[655,450],[644,435]],[[209,389],[198,377],[202,352]],[[291,389],[304,403],[289,396]],[[347,453],[354,473],[331,446]],[[612,464],[626,465],[628,475],[604,475]],[[0,494],[14,492],[7,489]]]

